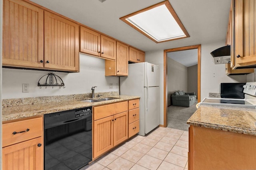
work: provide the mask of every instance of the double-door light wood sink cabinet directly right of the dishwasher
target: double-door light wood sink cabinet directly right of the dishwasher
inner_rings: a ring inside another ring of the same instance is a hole
[[[93,114],[93,158],[96,158],[128,139],[128,102],[94,107]]]

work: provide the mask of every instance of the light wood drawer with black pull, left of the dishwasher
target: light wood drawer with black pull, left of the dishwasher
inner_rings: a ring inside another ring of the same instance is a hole
[[[42,136],[42,117],[2,125],[2,147]],[[29,131],[26,131],[29,129]],[[22,132],[16,133],[14,132]]]

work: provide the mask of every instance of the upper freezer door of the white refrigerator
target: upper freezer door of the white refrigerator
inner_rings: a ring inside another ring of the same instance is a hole
[[[148,62],[144,63],[145,68],[145,87],[159,86],[159,66]]]

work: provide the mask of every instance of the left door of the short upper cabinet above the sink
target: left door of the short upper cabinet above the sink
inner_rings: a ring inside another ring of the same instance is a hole
[[[100,33],[80,26],[80,52],[100,56]]]

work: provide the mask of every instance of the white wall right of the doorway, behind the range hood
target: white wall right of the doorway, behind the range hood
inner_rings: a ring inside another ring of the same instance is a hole
[[[220,83],[246,82],[246,75],[227,76],[225,64],[214,64],[210,52],[225,45],[218,41],[201,45],[201,100],[220,92]]]

